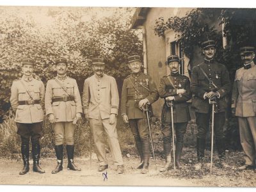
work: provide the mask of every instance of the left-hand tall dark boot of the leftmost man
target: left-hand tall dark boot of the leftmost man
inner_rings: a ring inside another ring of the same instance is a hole
[[[29,139],[21,139],[21,154],[24,166],[19,172],[20,175],[25,175],[29,172]]]

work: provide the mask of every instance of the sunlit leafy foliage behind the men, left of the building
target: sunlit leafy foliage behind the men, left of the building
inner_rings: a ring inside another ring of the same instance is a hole
[[[129,29],[133,8],[0,8],[0,105],[8,108],[12,81],[22,76],[20,63],[36,61],[44,83],[56,76],[54,60],[68,59],[68,76],[80,90],[92,76],[93,56],[106,59],[106,73],[122,82],[129,54],[141,54],[142,42]]]

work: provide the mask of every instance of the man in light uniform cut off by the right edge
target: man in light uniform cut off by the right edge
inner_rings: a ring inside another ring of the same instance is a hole
[[[255,47],[241,47],[243,67],[236,71],[232,91],[232,111],[239,123],[245,164],[240,170],[253,169],[256,160],[256,66]]]

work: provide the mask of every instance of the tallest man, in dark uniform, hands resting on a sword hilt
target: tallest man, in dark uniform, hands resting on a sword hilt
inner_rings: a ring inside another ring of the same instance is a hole
[[[191,92],[195,95],[192,98],[192,107],[196,112],[196,125],[198,127],[196,148],[198,162],[204,159],[205,135],[209,127],[211,116],[211,102],[216,100],[214,109],[214,137],[218,148],[218,157],[225,157],[225,140],[223,125],[225,124],[225,111],[227,101],[225,96],[230,92],[230,79],[225,65],[214,60],[216,53],[215,42],[207,40],[202,43],[204,62],[196,65],[191,74]]]

